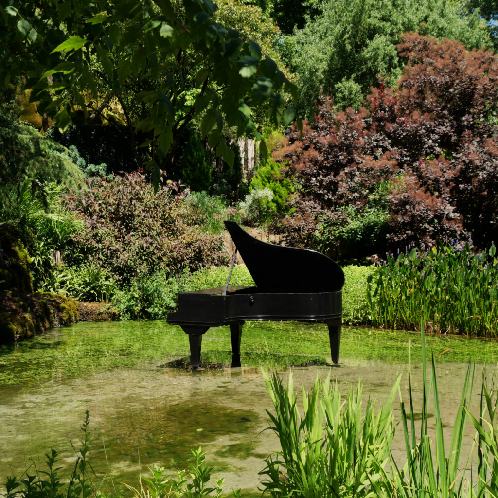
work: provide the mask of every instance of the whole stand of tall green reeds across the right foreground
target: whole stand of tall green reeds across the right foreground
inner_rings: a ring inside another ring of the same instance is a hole
[[[275,414],[267,411],[272,429],[278,436],[281,451],[277,458],[266,459],[266,468],[260,473],[267,476],[261,484],[273,498],[284,497],[481,497],[498,493],[498,433],[496,413],[497,394],[494,384],[491,394],[483,378],[483,397],[491,422],[485,419],[483,402],[480,418],[476,420],[468,409],[472,397],[474,369],[471,362],[465,377],[462,398],[457,411],[449,451],[445,451],[443,424],[437,386],[434,356],[431,358],[432,375],[428,380],[424,324],[422,330],[422,408],[420,435],[415,431],[415,408],[411,362],[409,362],[409,414],[399,390],[398,374],[383,406],[374,413],[375,401],[370,397],[362,416],[361,382],[357,390],[348,389],[342,401],[337,382],[331,385],[330,373],[325,381],[317,376],[311,394],[303,386],[304,415],[297,407],[292,374],[284,388],[276,374],[263,372]],[[411,347],[410,347],[411,354]],[[390,446],[397,424],[393,423],[392,403],[399,391],[401,425],[406,446],[406,461],[398,467]],[[321,397],[319,397],[321,391]],[[436,438],[432,444],[427,430],[429,399],[433,394]],[[478,483],[473,481],[472,450],[466,464],[459,467],[467,419],[470,416],[479,433]],[[408,422],[408,420],[410,422]],[[446,448],[448,442],[446,441]],[[386,470],[388,467],[388,470]],[[491,477],[488,480],[488,471]],[[477,484],[477,486],[476,486]]]

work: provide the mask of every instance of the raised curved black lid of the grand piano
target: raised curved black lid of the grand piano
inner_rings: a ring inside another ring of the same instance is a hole
[[[259,291],[334,292],[342,289],[343,270],[325,254],[258,241],[235,221],[226,221],[225,226]]]

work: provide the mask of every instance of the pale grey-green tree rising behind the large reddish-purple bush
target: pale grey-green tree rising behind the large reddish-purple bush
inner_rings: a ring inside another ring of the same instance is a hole
[[[316,114],[321,89],[345,109],[358,108],[379,74],[392,86],[405,64],[396,50],[399,33],[460,40],[469,50],[493,46],[479,11],[461,15],[453,3],[327,0],[321,9],[285,40],[286,62],[297,76],[300,107],[308,119]]]

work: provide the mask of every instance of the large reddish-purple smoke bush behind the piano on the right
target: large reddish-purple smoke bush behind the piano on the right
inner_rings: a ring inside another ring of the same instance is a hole
[[[301,186],[294,215],[280,220],[292,245],[311,246],[324,219],[346,223],[345,206],[367,209],[382,181],[390,225],[385,249],[461,239],[463,231],[481,247],[494,239],[497,57],[414,33],[405,33],[398,50],[407,65],[397,88],[380,83],[367,97],[369,109],[358,112],[335,112],[324,97],[302,141],[294,128],[273,153]]]

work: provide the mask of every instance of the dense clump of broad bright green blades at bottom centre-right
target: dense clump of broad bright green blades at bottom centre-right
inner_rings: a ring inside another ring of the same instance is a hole
[[[263,371],[275,413],[266,410],[272,429],[278,436],[281,451],[277,458],[266,459],[266,468],[259,474],[264,490],[273,498],[323,497],[327,494],[344,497],[369,497],[385,492],[389,480],[381,474],[389,461],[389,449],[396,425],[392,403],[398,390],[398,374],[384,405],[374,412],[370,397],[362,412],[362,385],[348,388],[346,400],[341,398],[331,374],[322,381],[317,375],[312,391],[302,389],[304,415],[297,406],[292,373],[285,388],[282,379]],[[321,392],[321,396],[320,396]],[[281,479],[281,469],[286,479]]]

